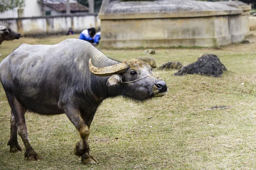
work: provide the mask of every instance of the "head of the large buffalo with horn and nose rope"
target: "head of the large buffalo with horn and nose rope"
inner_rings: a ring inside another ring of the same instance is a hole
[[[97,68],[89,60],[91,73],[97,76],[111,76],[107,81],[116,95],[127,96],[136,100],[164,96],[167,85],[152,74],[152,68],[140,59],[131,59],[104,68]]]

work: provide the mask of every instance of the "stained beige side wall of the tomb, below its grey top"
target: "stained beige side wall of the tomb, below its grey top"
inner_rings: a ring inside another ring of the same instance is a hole
[[[102,20],[101,46],[136,48],[227,45],[244,39],[241,21],[241,15]]]

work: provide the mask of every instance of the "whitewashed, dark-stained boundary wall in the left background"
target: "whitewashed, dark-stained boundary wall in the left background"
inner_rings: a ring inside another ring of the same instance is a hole
[[[72,27],[76,34],[84,29],[100,27],[100,20],[93,14],[55,17],[29,17],[0,19],[0,25],[9,26],[22,35],[66,33]]]

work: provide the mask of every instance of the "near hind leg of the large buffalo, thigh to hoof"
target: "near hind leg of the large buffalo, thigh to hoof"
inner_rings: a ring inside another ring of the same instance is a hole
[[[25,122],[25,113],[27,109],[24,108],[23,105],[11,93],[6,92],[6,96],[7,96],[9,105],[12,109],[13,116],[15,118],[17,132],[19,133],[26,148],[25,158],[27,158],[28,161],[38,160],[37,153],[35,153],[35,150],[29,143],[27,127]]]

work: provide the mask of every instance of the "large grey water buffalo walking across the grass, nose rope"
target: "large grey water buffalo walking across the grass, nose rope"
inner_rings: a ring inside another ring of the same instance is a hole
[[[97,163],[89,154],[88,136],[94,113],[104,99],[121,95],[143,101],[168,90],[145,62],[120,63],[78,39],[56,45],[20,45],[0,63],[0,80],[12,110],[10,151],[21,151],[18,132],[27,160],[38,159],[29,144],[26,111],[66,113],[80,134],[74,152],[84,164]]]

